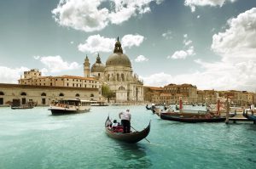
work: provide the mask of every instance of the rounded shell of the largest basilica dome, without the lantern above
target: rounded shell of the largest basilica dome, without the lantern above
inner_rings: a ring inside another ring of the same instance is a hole
[[[121,65],[121,66],[131,67],[131,61],[125,54],[114,53],[108,57],[106,65],[107,66]]]

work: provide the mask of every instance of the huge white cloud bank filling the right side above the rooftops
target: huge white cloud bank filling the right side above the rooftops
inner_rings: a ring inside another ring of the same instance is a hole
[[[218,62],[196,59],[195,63],[202,71],[175,76],[157,73],[142,77],[144,84],[191,83],[200,89],[255,91],[256,42],[253,37],[256,37],[256,8],[228,20],[227,25],[224,32],[212,37],[212,51],[221,57]]]

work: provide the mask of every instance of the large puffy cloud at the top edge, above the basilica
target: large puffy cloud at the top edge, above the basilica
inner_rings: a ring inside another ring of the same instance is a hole
[[[148,13],[152,2],[160,4],[163,0],[60,0],[52,14],[59,25],[86,32],[100,31],[109,23],[119,25],[131,16]],[[110,8],[103,8],[103,3]]]

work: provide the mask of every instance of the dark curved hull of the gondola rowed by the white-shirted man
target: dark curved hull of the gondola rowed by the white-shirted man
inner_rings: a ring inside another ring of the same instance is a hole
[[[141,141],[143,138],[146,138],[148,136],[148,133],[150,132],[150,122],[148,124],[148,127],[143,129],[141,132],[130,132],[130,133],[121,133],[121,132],[113,132],[109,127],[108,124],[110,124],[111,121],[109,119],[109,116],[105,122],[105,130],[110,138],[117,139],[119,141],[123,141],[129,144],[135,144],[139,141]]]

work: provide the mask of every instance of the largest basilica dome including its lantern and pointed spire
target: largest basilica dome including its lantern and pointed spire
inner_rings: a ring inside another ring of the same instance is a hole
[[[123,54],[123,49],[121,47],[121,43],[119,42],[119,38],[118,41],[115,42],[113,54],[110,54],[106,61],[106,66],[113,65],[131,67],[130,59],[125,54]]]

